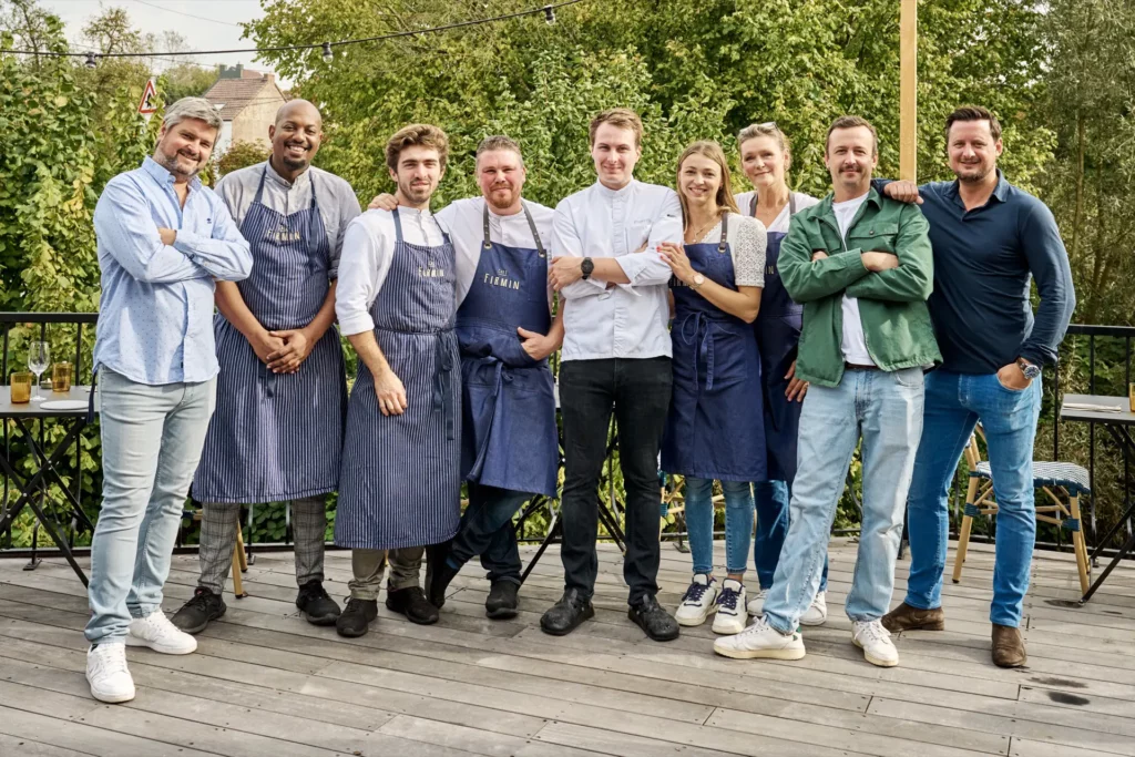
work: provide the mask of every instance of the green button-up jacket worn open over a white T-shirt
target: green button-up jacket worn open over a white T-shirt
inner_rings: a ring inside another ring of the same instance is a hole
[[[926,298],[934,286],[930,226],[917,205],[871,190],[848,227],[847,242],[832,195],[792,217],[776,267],[796,302],[804,304],[796,375],[819,386],[843,378],[843,295],[859,298],[867,352],[885,371],[942,362]],[[818,250],[827,253],[812,261]],[[872,272],[863,252],[898,255],[899,267]]]

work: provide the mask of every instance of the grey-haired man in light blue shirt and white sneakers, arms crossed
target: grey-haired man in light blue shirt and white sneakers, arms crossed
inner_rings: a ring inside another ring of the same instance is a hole
[[[162,613],[162,587],[216,402],[213,283],[252,270],[225,203],[196,178],[219,132],[208,101],[178,100],[153,157],[110,179],[94,211],[103,482],[85,636],[100,701],[134,698],[126,645],[196,649]]]

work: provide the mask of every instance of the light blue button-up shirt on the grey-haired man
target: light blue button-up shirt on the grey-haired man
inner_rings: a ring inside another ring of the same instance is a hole
[[[159,228],[177,232],[173,245]],[[213,280],[239,281],[252,270],[249,243],[220,197],[194,178],[183,208],[174,175],[146,158],[107,183],[94,232],[102,270],[95,369],[149,385],[216,376]]]

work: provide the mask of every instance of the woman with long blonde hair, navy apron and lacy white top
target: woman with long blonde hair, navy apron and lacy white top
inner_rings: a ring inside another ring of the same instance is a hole
[[[765,478],[760,367],[751,327],[764,284],[765,227],[738,212],[716,142],[696,142],[678,161],[684,245],[658,246],[674,276],[673,395],[662,466],[686,477],[693,580],[678,608],[682,625],[716,613],[713,630],[739,633],[748,614],[745,569],[753,531],[751,482]],[[725,495],[725,562],[713,575],[713,482]]]

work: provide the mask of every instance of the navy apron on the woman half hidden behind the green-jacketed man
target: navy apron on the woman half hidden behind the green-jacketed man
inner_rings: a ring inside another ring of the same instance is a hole
[[[796,215],[796,195],[789,193],[789,219]],[[753,195],[750,215],[757,216],[757,195]],[[791,220],[789,221],[791,222]],[[792,302],[780,279],[776,261],[787,234],[768,232],[765,247],[765,289],[760,295],[760,312],[754,322],[760,350],[760,390],[764,399],[765,444],[768,451],[768,479],[791,483],[796,478],[796,443],[800,430],[804,403],[784,396],[789,379],[784,376],[796,360],[804,325],[804,305]]]

